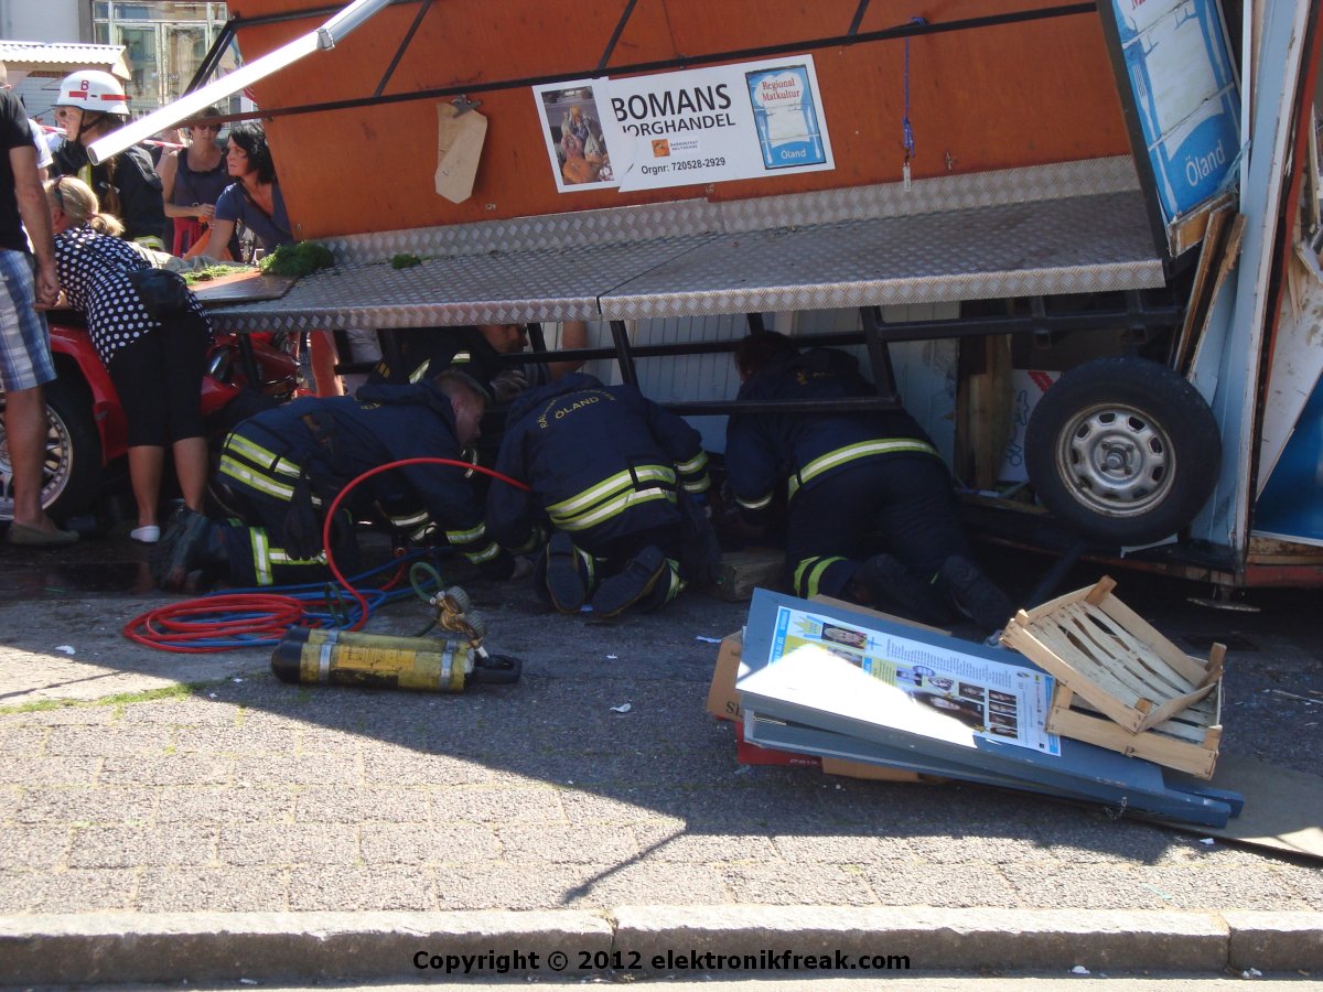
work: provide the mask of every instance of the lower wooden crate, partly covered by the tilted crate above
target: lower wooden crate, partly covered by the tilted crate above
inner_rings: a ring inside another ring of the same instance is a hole
[[[1151,730],[1131,734],[1058,681],[1048,709],[1046,730],[1209,779],[1217,766],[1217,747],[1222,737],[1221,708],[1218,682],[1215,692],[1189,709]]]

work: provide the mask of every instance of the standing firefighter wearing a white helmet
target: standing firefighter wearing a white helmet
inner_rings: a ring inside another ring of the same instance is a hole
[[[124,238],[164,251],[169,243],[165,201],[152,156],[134,145],[95,165],[87,157],[87,145],[127,119],[128,97],[114,75],[99,69],[66,75],[56,97],[56,123],[65,130],[65,140],[54,152],[50,175],[81,179],[102,209],[123,222]]]

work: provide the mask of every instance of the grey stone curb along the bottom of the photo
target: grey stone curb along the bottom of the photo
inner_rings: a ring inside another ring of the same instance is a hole
[[[523,960],[513,958],[516,952]],[[783,968],[773,955],[785,952],[824,955],[832,962],[837,952],[856,962],[860,955],[904,955],[917,972],[1069,971],[1077,964],[1094,972],[1310,971],[1323,968],[1323,917],[622,906],[609,914],[492,910],[0,918],[0,985],[439,979],[609,968],[681,976],[725,972],[729,977],[737,968],[721,967],[706,955],[749,955],[738,968],[747,973]]]

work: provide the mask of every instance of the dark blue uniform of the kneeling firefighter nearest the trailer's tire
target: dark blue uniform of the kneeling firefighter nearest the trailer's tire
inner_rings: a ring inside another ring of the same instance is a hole
[[[830,348],[778,354],[740,389],[740,399],[876,394],[855,358]],[[970,553],[946,464],[904,410],[732,417],[726,471],[753,520],[787,487],[786,581],[796,595],[844,595],[873,534],[923,583]]]

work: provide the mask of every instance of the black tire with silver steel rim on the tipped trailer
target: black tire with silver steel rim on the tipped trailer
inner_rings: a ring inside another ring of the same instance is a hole
[[[1213,411],[1167,366],[1097,358],[1065,373],[1025,433],[1029,483],[1082,537],[1160,541],[1193,520],[1221,466]]]

